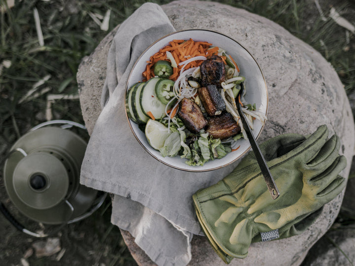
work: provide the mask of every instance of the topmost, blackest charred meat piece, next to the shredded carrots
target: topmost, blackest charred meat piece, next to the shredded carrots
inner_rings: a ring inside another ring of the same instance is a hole
[[[200,72],[201,84],[204,87],[207,85],[220,87],[221,82],[225,80],[224,63],[222,59],[216,55],[202,62]]]

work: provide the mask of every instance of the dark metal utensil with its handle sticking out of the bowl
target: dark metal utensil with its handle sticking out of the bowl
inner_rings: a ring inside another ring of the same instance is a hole
[[[266,161],[264,159],[264,156],[262,155],[262,153],[260,151],[259,145],[256,143],[254,135],[251,133],[249,124],[248,124],[248,122],[246,120],[246,117],[245,117],[245,115],[244,115],[244,113],[242,111],[241,104],[240,104],[240,102],[238,100],[239,97],[243,96],[243,92],[244,92],[244,84],[243,84],[243,82],[240,85],[241,85],[241,89],[238,92],[237,97],[236,97],[237,109],[238,109],[240,118],[242,120],[243,127],[244,127],[244,129],[245,129],[245,131],[247,133],[251,148],[252,148],[252,150],[253,150],[253,152],[255,154],[256,161],[258,162],[258,164],[260,166],[260,169],[261,169],[261,173],[264,176],[264,180],[266,182],[266,186],[268,187],[268,190],[270,191],[271,197],[273,199],[277,199],[279,197],[279,195],[280,195],[279,190],[276,187],[274,178],[272,177],[270,169],[267,166]]]

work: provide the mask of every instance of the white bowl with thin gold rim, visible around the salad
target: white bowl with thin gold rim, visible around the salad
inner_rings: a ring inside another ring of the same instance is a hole
[[[261,72],[259,65],[256,63],[252,55],[234,39],[223,35],[221,33],[207,31],[207,30],[183,30],[175,33],[168,34],[161,39],[151,44],[139,57],[136,64],[129,75],[126,90],[128,90],[134,83],[143,79],[142,72],[146,67],[146,61],[149,61],[150,56],[159,51],[166,45],[169,45],[169,41],[173,39],[185,39],[192,38],[195,41],[207,41],[212,43],[213,46],[218,46],[227,51],[233,59],[236,61],[240,68],[240,75],[246,77],[246,90],[247,94],[245,99],[248,103],[256,103],[256,108],[267,115],[268,108],[268,94],[264,76]],[[127,115],[127,114],[126,114]],[[215,159],[208,161],[204,166],[189,166],[186,159],[176,157],[163,157],[159,151],[153,149],[145,138],[144,132],[139,129],[139,126],[128,119],[131,130],[137,140],[141,143],[142,147],[155,159],[167,166],[171,166],[180,170],[186,171],[210,171],[227,166],[236,160],[240,159],[249,149],[250,144],[246,139],[238,140],[240,148],[236,151],[228,153],[221,159]],[[254,130],[252,131],[255,138],[259,136],[264,124],[259,120],[254,120]]]

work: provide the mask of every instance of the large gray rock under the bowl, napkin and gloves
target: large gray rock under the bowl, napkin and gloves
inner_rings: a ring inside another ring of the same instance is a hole
[[[278,24],[234,8],[209,1],[179,0],[162,6],[176,30],[208,29],[224,33],[246,47],[260,65],[268,86],[268,121],[259,142],[282,133],[308,134],[326,124],[330,133],[342,141],[340,153],[348,166],[354,153],[354,120],[345,94],[333,67],[312,47],[297,39]],[[106,74],[106,55],[115,30],[109,33],[95,52],[83,59],[77,81],[85,125],[92,132],[100,113],[100,97]],[[193,36],[191,36],[193,37]],[[254,243],[243,260],[231,265],[300,265],[312,245],[333,224],[344,193],[326,204],[319,219],[299,236],[264,243]],[[128,247],[140,265],[153,265],[122,232]],[[207,238],[192,239],[190,265],[224,265]]]

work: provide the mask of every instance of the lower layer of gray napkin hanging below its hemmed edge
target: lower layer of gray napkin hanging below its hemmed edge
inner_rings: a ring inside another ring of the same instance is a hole
[[[158,265],[184,266],[191,260],[188,243],[192,233],[176,229],[164,217],[137,201],[115,195],[111,223],[130,232],[135,242]],[[174,244],[161,252],[162,247],[156,243],[162,241]]]

